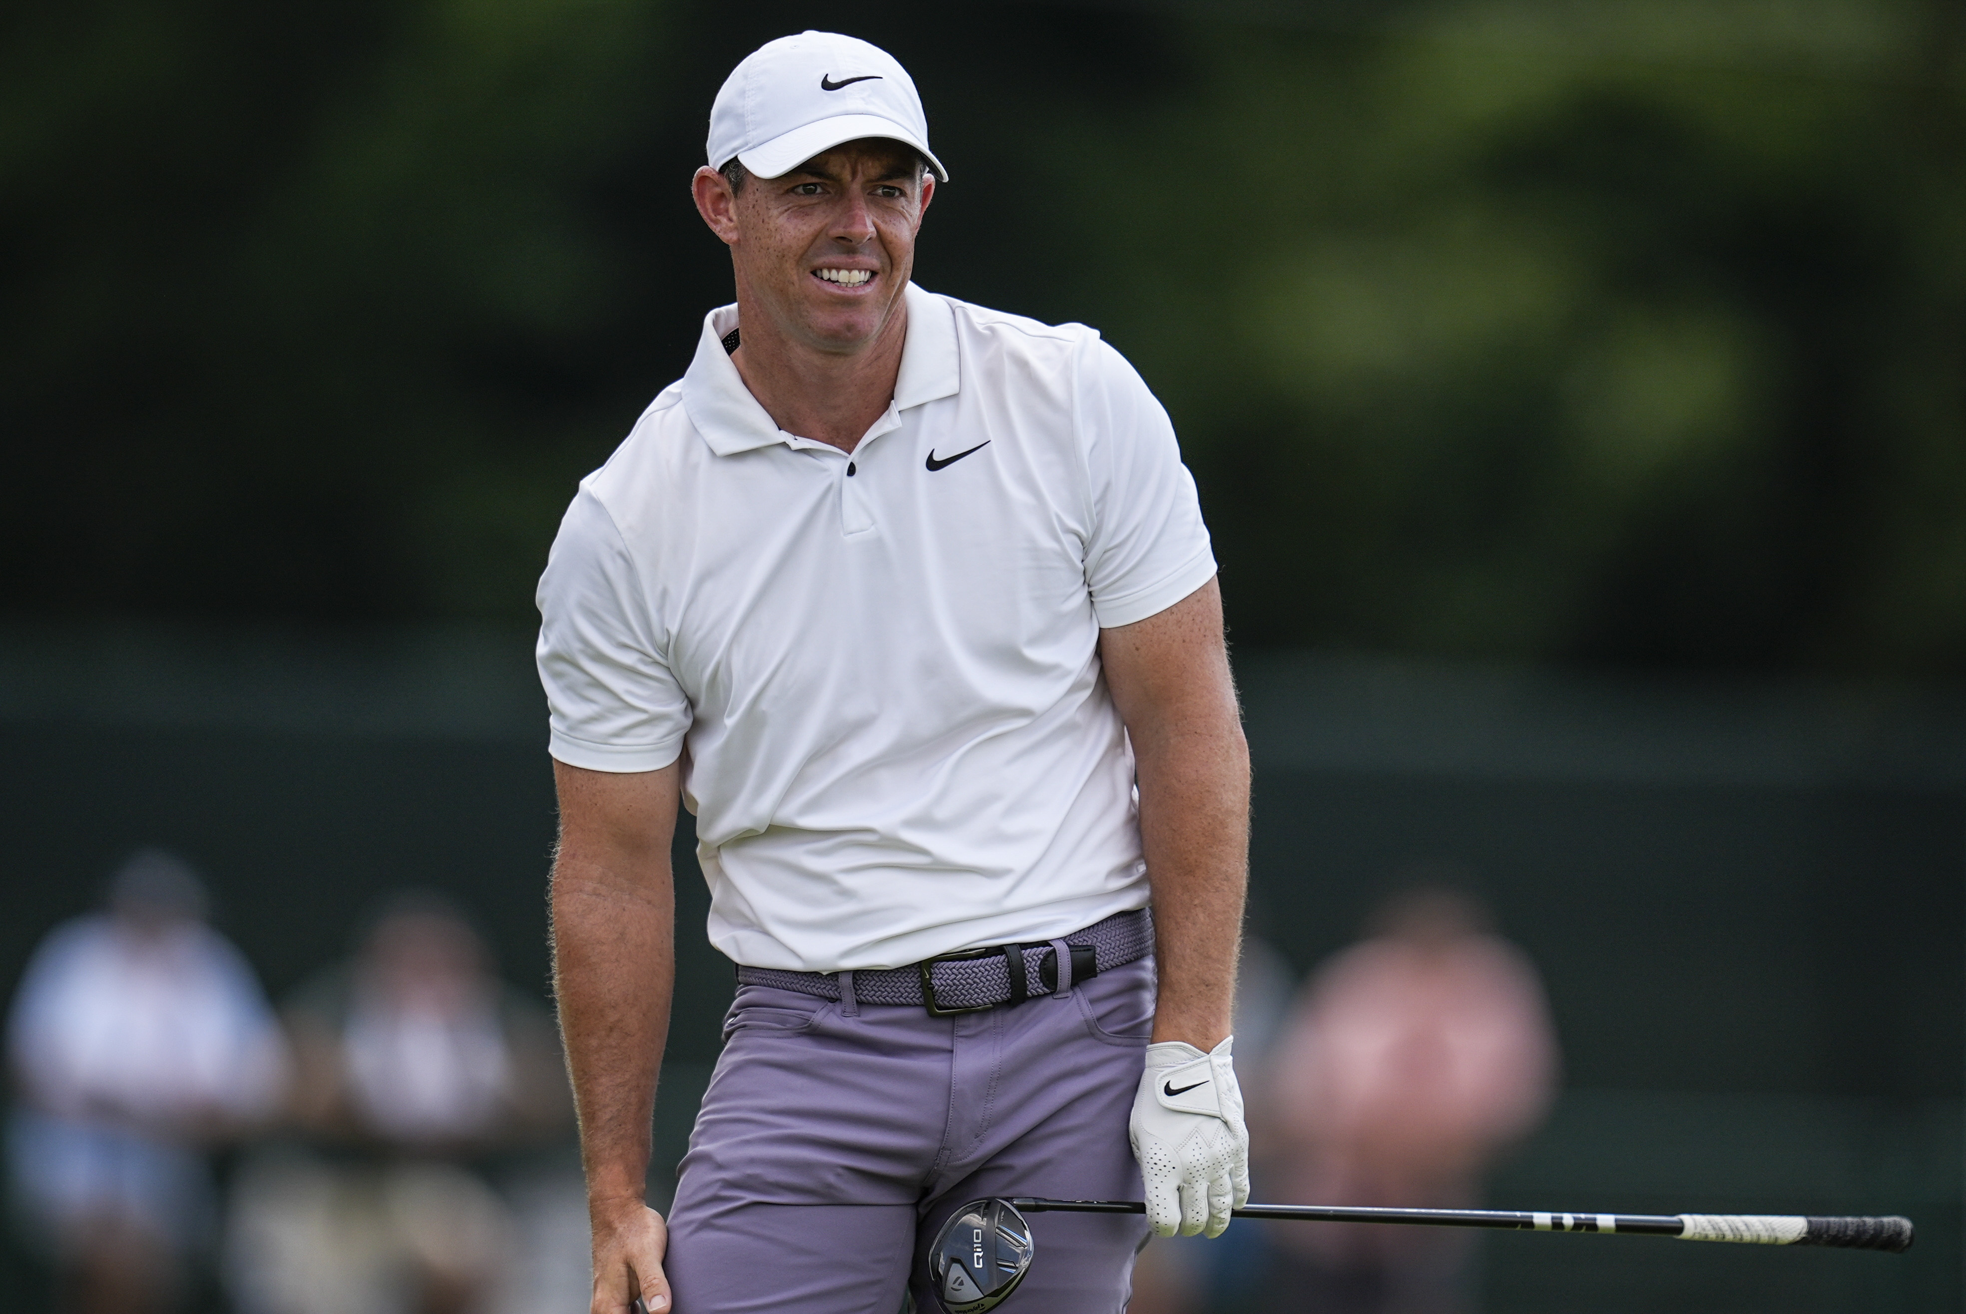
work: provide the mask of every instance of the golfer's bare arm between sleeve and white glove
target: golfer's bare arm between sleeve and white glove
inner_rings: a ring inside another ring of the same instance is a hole
[[[1248,884],[1248,744],[1237,711],[1221,589],[1099,632],[1107,687],[1140,782],[1160,998],[1154,1041],[1213,1049],[1229,1035]]]

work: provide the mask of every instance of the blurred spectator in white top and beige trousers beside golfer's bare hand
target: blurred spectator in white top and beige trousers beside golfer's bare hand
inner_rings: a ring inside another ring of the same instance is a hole
[[[409,894],[287,1017],[309,1145],[240,1177],[226,1239],[238,1306],[493,1308],[523,1237],[484,1169],[562,1129],[568,1112],[545,1008],[492,974],[452,905]]]

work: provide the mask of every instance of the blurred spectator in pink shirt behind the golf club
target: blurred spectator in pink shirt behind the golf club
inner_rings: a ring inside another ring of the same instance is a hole
[[[1549,1106],[1557,1053],[1535,968],[1447,888],[1388,902],[1305,986],[1272,1065],[1284,1200],[1453,1208]],[[1268,1308],[1467,1308],[1473,1233],[1272,1224]]]

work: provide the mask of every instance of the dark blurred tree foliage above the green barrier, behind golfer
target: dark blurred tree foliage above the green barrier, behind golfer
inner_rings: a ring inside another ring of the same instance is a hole
[[[723,71],[922,82],[920,279],[1168,401],[1244,642],[1966,670],[1938,0],[79,0],[0,29],[0,607],[521,621],[727,299]]]

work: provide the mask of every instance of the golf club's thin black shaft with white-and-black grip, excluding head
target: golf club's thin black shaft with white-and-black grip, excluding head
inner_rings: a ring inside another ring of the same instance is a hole
[[[1144,1214],[1140,1200],[1012,1198],[1026,1214]],[[1598,1232],[1665,1235],[1685,1241],[1760,1245],[1834,1245],[1840,1249],[1911,1249],[1909,1218],[1801,1218],[1779,1214],[1555,1214],[1528,1210],[1398,1210],[1335,1204],[1250,1204],[1235,1218],[1276,1218],[1327,1224],[1417,1224],[1423,1228],[1498,1228],[1504,1232]]]

